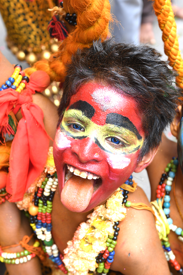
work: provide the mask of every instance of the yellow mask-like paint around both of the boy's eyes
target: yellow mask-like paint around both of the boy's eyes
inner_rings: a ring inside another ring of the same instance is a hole
[[[83,130],[75,130],[71,125],[79,124]],[[60,128],[72,138],[91,138],[104,151],[112,154],[127,155],[137,151],[142,147],[143,139],[124,127],[117,127],[113,124],[100,126],[83,115],[80,110],[69,109],[64,113]],[[115,137],[120,140],[121,145],[117,145],[109,138]]]

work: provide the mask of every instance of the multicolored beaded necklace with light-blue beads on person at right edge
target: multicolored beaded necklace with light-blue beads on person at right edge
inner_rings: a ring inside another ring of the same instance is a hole
[[[159,185],[157,186],[156,190],[156,197],[157,197],[157,203],[159,203],[159,200],[163,200],[163,211],[166,215],[167,222],[169,225],[170,230],[174,231],[178,235],[178,239],[183,241],[183,230],[180,227],[177,227],[173,225],[173,220],[170,218],[170,191],[172,189],[172,183],[175,179],[175,173],[177,171],[178,167],[178,159],[173,157],[170,163],[167,164],[167,167],[165,168],[165,173],[162,174],[162,177],[160,179]],[[164,181],[166,180],[166,183]],[[166,237],[166,240],[162,241],[162,247],[166,256],[166,259],[168,262],[170,262],[170,265],[177,270],[179,274],[183,274],[183,268],[179,265],[179,263],[175,259],[175,255],[173,251],[170,248],[170,243],[168,241],[168,237]]]

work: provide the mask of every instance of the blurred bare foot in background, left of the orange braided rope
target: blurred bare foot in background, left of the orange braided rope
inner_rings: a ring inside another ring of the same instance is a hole
[[[143,44],[155,44],[154,31],[152,23],[142,23],[140,28],[140,42]]]

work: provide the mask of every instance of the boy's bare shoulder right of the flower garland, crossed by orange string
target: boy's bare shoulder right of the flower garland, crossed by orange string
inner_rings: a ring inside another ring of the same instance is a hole
[[[129,194],[128,200],[149,206],[149,201],[140,187]],[[127,275],[170,274],[154,216],[150,211],[127,208],[126,218],[120,222],[119,227],[112,270]]]

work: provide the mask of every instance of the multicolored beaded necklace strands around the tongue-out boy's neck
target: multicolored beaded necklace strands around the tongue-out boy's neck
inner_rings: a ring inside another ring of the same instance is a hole
[[[132,185],[132,176],[125,182],[126,185]],[[34,230],[34,233],[37,235],[39,240],[43,242],[43,250],[46,252],[49,259],[51,259],[60,270],[65,274],[68,273],[64,263],[63,255],[59,252],[57,245],[53,243],[52,239],[52,201],[58,185],[57,174],[45,178],[42,182],[41,187],[38,188],[38,191],[34,195],[34,205],[29,207],[29,213],[32,214],[35,210],[35,207],[38,207],[37,215],[30,215],[30,226]],[[127,201],[129,191],[120,188],[120,193],[123,194],[122,205],[127,207],[131,206],[131,202]],[[119,234],[120,228],[118,227],[119,221],[114,222],[113,226],[113,235],[108,235],[105,246],[105,250],[100,251],[96,259],[96,273],[108,273],[111,263],[114,258],[114,248],[117,244],[117,236]],[[92,271],[88,270],[89,273]]]

